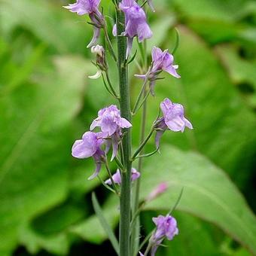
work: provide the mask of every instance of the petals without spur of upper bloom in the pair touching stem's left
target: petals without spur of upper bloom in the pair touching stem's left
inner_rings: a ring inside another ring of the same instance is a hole
[[[110,105],[98,112],[98,117],[93,120],[90,130],[97,126],[100,127],[103,133],[112,136],[114,133],[120,134],[120,128],[130,128],[132,124],[120,116],[120,110],[116,105]]]

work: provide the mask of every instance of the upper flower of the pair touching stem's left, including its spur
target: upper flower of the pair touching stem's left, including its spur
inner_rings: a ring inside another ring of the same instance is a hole
[[[111,105],[107,108],[103,108],[98,112],[98,117],[93,120],[90,126],[90,130],[94,130],[96,127],[100,127],[103,133],[111,139],[113,147],[113,154],[111,160],[117,154],[118,145],[120,143],[121,128],[130,128],[132,124],[125,118],[120,116],[120,110],[116,105]],[[109,145],[108,145],[109,147]]]

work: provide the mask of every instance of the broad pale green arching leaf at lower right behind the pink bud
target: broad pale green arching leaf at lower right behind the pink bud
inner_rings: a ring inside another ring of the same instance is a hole
[[[184,187],[177,210],[214,223],[255,253],[256,218],[227,175],[200,154],[167,145],[161,148],[161,152],[157,159],[152,157],[146,161],[142,197],[147,197],[151,187],[163,181],[169,183],[169,190],[150,203],[147,209],[168,212]]]

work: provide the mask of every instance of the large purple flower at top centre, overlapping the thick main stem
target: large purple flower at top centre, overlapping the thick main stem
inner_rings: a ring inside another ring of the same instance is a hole
[[[147,23],[145,11],[134,0],[123,0],[120,2],[119,8],[125,14],[125,31],[123,35],[128,37],[126,58],[130,54],[133,46],[133,38],[138,37],[139,42],[147,38],[151,38],[152,31]],[[116,26],[114,26],[113,34],[116,35]]]

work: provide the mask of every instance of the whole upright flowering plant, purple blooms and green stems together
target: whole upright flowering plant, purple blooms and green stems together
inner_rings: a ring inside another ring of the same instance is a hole
[[[139,246],[140,239],[140,220],[139,215],[146,203],[157,198],[163,194],[168,188],[167,183],[161,183],[157,189],[153,190],[145,200],[140,202],[140,175],[142,171],[142,161],[144,157],[150,157],[157,153],[160,147],[160,138],[167,130],[172,132],[184,132],[185,127],[193,129],[192,124],[186,117],[184,117],[183,105],[173,103],[166,98],[160,104],[159,114],[151,126],[148,136],[145,135],[147,124],[147,100],[148,96],[154,96],[154,87],[159,81],[161,72],[168,72],[175,78],[180,78],[177,73],[178,65],[174,65],[174,57],[168,50],[161,50],[159,47],[153,47],[151,56],[151,66],[148,66],[148,56],[146,50],[146,39],[151,38],[151,28],[147,22],[147,14],[145,8],[142,8],[148,3],[152,11],[154,6],[152,0],[146,0],[139,5],[138,0],[112,0],[116,9],[116,23],[112,28],[112,33],[117,39],[117,53],[116,49],[111,44],[108,36],[108,23],[104,15],[99,11],[99,4],[101,0],[77,0],[74,4],[65,6],[69,11],[77,13],[78,15],[87,14],[90,17],[90,24],[93,25],[93,38],[87,47],[91,47],[91,52],[96,54],[96,61],[93,65],[97,67],[95,75],[90,76],[91,79],[98,79],[102,77],[105,89],[114,99],[117,99],[120,109],[117,105],[109,105],[98,111],[98,116],[90,125],[90,131],[84,133],[81,139],[75,141],[72,146],[72,156],[78,159],[86,159],[93,157],[96,164],[96,169],[89,179],[98,177],[105,186],[120,198],[120,226],[119,226],[119,242],[114,236],[114,232],[100,209],[96,196],[93,195],[93,206],[102,227],[108,233],[114,250],[119,256],[136,256],[138,253],[142,256],[141,249],[145,243],[148,242],[148,247],[145,249],[144,256],[151,254],[154,256],[157,248],[161,245],[163,239],[171,240],[173,236],[178,234],[178,227],[170,215],[159,215],[153,218],[156,228],[150,236],[146,236],[145,240]],[[103,30],[105,35],[105,47],[97,44],[99,41],[100,32]],[[128,66],[133,60],[139,63],[136,59],[136,52],[130,57],[133,47],[134,38],[137,38],[139,43],[139,50],[141,52],[142,66],[139,69],[142,75],[136,75],[137,78],[142,79],[143,84],[139,95],[137,96],[133,112],[130,105],[130,84],[128,82]],[[177,44],[178,47],[178,34]],[[117,71],[119,75],[119,93],[114,89],[111,83],[111,77],[108,73],[108,61],[106,50],[109,51],[117,64]],[[148,70],[148,71],[147,71]],[[143,75],[145,74],[145,75]],[[139,148],[135,153],[131,154],[132,136],[131,127],[132,115],[142,108],[142,122],[140,130]],[[155,133],[156,150],[151,153],[144,154],[145,146],[147,145],[151,136]],[[111,156],[108,154],[111,151]],[[115,161],[117,171],[112,174],[108,166],[108,158],[110,161]],[[133,161],[139,159],[138,171],[132,168]],[[100,171],[102,165],[105,165],[109,178],[102,181],[100,178]],[[137,181],[136,181],[137,180]],[[132,181],[136,181],[134,190],[132,191]],[[133,192],[133,200],[132,200]],[[180,196],[181,197],[181,196]],[[179,197],[179,199],[180,199]],[[133,201],[133,202],[132,202]],[[175,204],[176,206],[176,204]],[[173,209],[175,209],[175,206]],[[173,210],[172,209],[172,210]]]

